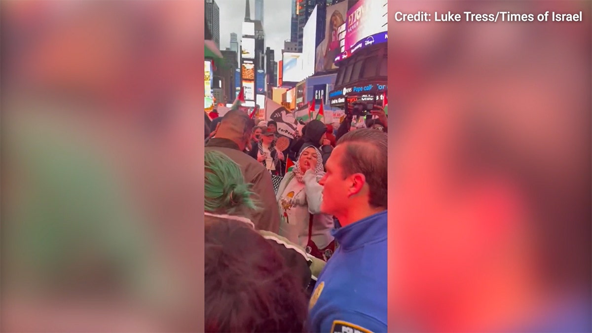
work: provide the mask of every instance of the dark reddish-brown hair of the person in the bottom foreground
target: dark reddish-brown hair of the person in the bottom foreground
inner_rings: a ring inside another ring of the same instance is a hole
[[[205,332],[303,332],[300,278],[252,226],[205,216]]]

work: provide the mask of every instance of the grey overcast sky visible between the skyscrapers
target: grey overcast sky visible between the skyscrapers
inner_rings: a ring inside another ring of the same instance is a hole
[[[246,0],[215,0],[220,8],[220,50],[230,47],[230,33],[236,33],[239,45],[242,36]],[[249,0],[250,16],[255,20],[255,0]],[[263,0],[263,30],[265,46],[275,50],[275,61],[290,39],[291,0]]]

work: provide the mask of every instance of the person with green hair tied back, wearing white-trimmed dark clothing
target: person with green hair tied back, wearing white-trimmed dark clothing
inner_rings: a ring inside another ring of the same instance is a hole
[[[239,220],[255,228],[248,212],[259,209],[262,203],[253,199],[252,184],[244,181],[239,165],[224,153],[208,151],[204,156],[204,168],[205,216]],[[303,287],[314,284],[324,267],[323,261],[311,257],[301,246],[274,232],[258,232],[278,249],[294,274],[302,277]]]

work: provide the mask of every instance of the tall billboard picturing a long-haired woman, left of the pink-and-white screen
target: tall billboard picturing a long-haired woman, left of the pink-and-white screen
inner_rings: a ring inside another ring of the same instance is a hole
[[[363,0],[360,0],[363,1]],[[372,0],[369,0],[372,1]],[[379,0],[380,2],[385,0]],[[348,14],[348,1],[327,7],[325,39],[318,44],[315,55],[315,71],[324,72],[337,69],[334,60],[343,51],[340,41],[345,39],[345,25]],[[345,41],[343,41],[345,43]],[[344,50],[345,51],[345,50]]]

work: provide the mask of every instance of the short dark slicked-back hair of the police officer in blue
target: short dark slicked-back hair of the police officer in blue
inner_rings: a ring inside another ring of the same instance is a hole
[[[343,176],[360,173],[370,187],[368,203],[372,207],[388,207],[388,137],[375,129],[359,129],[342,136],[337,145],[345,145]]]

